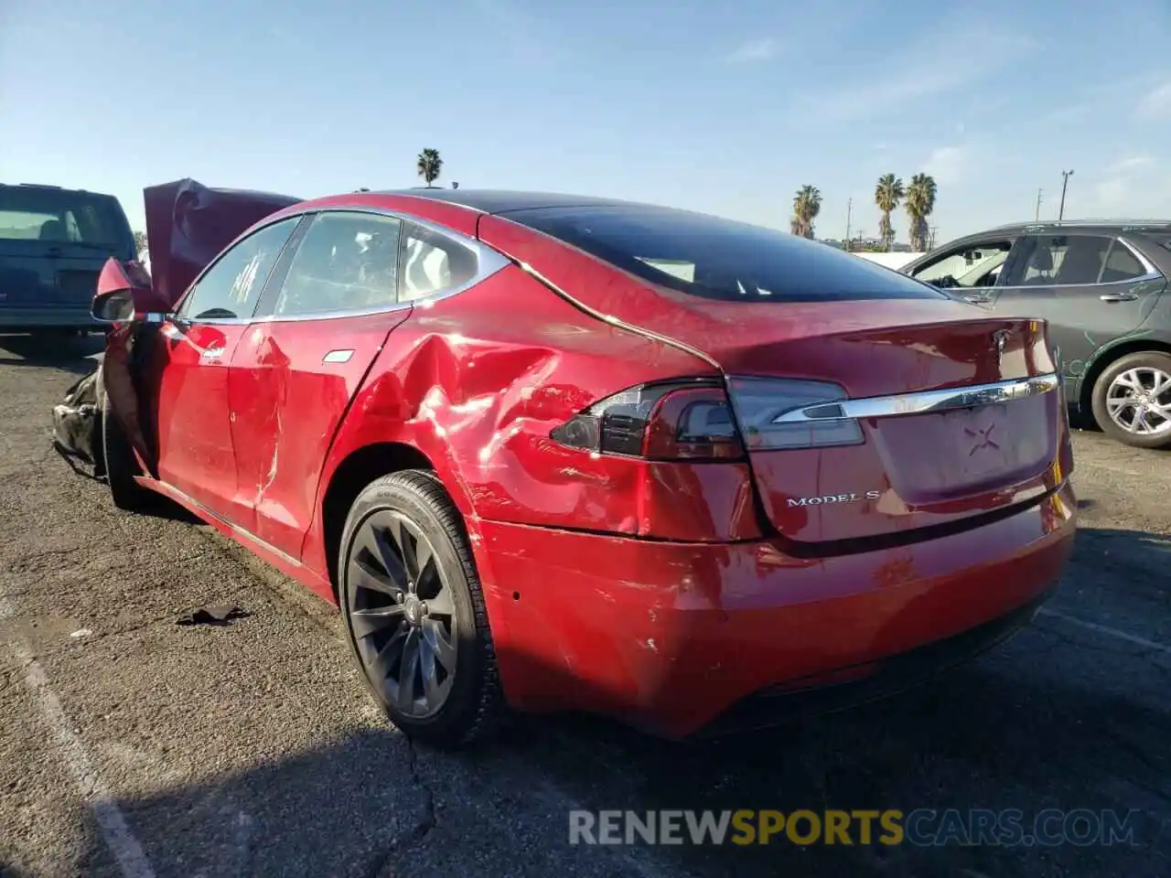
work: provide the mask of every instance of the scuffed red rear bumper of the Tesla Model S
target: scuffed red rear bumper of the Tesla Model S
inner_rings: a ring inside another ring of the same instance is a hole
[[[1032,618],[1075,528],[1067,483],[972,530],[820,560],[482,521],[475,551],[514,706],[679,736],[778,687],[858,688],[899,677],[892,657],[913,653],[923,677],[979,652]]]

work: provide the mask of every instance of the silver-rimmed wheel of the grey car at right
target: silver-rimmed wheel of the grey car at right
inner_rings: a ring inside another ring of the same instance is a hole
[[[1143,390],[1150,391],[1156,383],[1164,382],[1171,382],[1171,354],[1139,351],[1110,363],[1094,383],[1094,419],[1102,432],[1136,448],[1171,447],[1171,420],[1149,410],[1139,418],[1144,411]],[[1151,397],[1145,399],[1150,402]],[[1171,386],[1164,386],[1156,402],[1163,405],[1171,403]],[[1135,427],[1143,423],[1158,432],[1143,432]]]

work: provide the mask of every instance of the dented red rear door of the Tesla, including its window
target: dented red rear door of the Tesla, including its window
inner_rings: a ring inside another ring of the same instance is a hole
[[[326,453],[395,327],[397,219],[333,211],[299,229],[232,357],[232,519],[293,558]]]

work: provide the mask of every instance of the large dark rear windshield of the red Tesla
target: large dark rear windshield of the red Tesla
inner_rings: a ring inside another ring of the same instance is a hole
[[[946,299],[827,243],[667,207],[541,207],[508,219],[638,277],[726,302]]]

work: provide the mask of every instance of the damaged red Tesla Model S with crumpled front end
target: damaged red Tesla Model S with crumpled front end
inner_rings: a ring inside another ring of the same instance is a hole
[[[909,685],[1074,540],[1043,322],[665,207],[146,190],[104,467],[337,603],[438,746],[505,706],[680,736]]]

